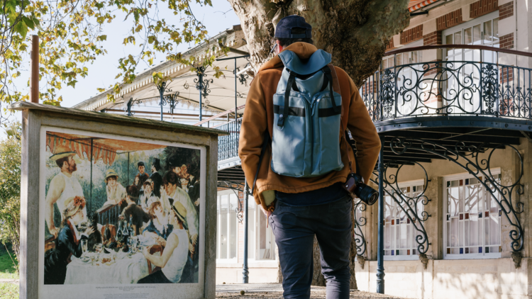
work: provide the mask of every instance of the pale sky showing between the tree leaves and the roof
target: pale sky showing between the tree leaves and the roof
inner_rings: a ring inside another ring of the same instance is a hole
[[[167,2],[160,2],[160,4],[166,4]],[[199,4],[192,4],[192,11],[194,16],[204,23],[208,30],[209,36],[214,36],[220,33],[222,30],[227,28],[232,28],[234,25],[239,25],[240,20],[231,9],[231,5],[228,1],[225,0],[214,0],[212,1],[213,6],[199,6]],[[104,27],[104,33],[107,35],[107,40],[102,43],[104,48],[107,50],[105,56],[99,56],[96,58],[94,64],[87,64],[86,67],[89,69],[89,74],[87,77],[77,78],[77,84],[75,88],[62,84],[64,87],[57,92],[57,96],[62,96],[63,101],[61,106],[63,107],[72,107],[77,103],[80,103],[87,98],[91,98],[99,92],[97,88],[109,88],[111,84],[116,83],[118,79],[114,79],[116,74],[119,73],[118,70],[118,59],[121,57],[127,56],[129,54],[138,55],[140,51],[137,46],[124,46],[123,39],[128,37],[130,27],[133,22],[131,18],[128,18],[127,21],[122,21],[126,15],[121,13],[116,13],[116,19],[113,23],[106,24]],[[174,25],[179,25],[179,16],[174,16],[170,10],[164,11],[161,10],[159,13],[160,18],[165,18],[167,23],[170,23],[172,18],[177,19],[177,22]],[[140,42],[138,42],[140,43]],[[187,50],[189,47],[194,47],[192,43],[182,44],[177,47],[177,51],[182,52]],[[153,62],[158,64],[161,60],[165,59],[165,55],[157,55],[157,59]],[[144,62],[140,62],[137,67],[137,72],[142,72],[144,69],[148,68],[148,65]],[[29,69],[29,60],[28,60],[28,69]],[[18,89],[27,89],[26,84],[29,77],[27,69],[23,71],[21,76],[21,81],[16,82],[19,86]],[[43,83],[40,84],[41,91],[43,90]],[[13,115],[16,119],[21,120],[21,113],[17,112]],[[10,119],[13,119],[13,116]],[[0,130],[0,137],[5,137],[4,130]]]

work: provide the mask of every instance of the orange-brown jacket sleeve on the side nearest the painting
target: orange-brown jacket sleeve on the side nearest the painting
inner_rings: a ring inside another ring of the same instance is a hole
[[[267,132],[266,101],[260,84],[260,74],[257,74],[251,82],[248,98],[245,100],[238,147],[238,156],[242,161],[242,169],[250,188],[253,188],[265,132]]]

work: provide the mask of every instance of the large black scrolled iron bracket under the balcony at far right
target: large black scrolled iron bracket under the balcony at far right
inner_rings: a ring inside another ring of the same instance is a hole
[[[509,147],[514,150],[516,157],[519,157],[519,174],[513,182],[505,184],[492,174],[491,159],[494,151],[497,149],[504,149]],[[472,176],[480,181],[484,186],[489,196],[497,202],[501,213],[504,214],[509,225],[512,227],[509,232],[511,239],[511,249],[514,252],[519,252],[523,249],[523,227],[518,215],[523,213],[524,204],[519,201],[514,201],[514,195],[521,196],[524,193],[524,186],[521,184],[523,177],[523,157],[511,145],[503,144],[483,144],[479,146],[466,146],[464,142],[456,142],[454,147],[440,145],[437,142],[416,139],[416,138],[402,138],[396,137],[392,139],[390,148],[395,154],[403,154],[407,150],[418,150],[421,152],[429,152],[440,157],[454,162],[462,167]],[[487,158],[480,157],[484,153]],[[420,251],[421,252],[421,251]]]

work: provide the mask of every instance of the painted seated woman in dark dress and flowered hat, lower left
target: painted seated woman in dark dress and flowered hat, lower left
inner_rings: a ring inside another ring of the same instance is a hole
[[[55,239],[55,248],[45,254],[45,284],[63,284],[67,276],[67,265],[70,256],[82,256],[82,239],[88,239],[94,232],[92,227],[83,233],[76,226],[83,221],[85,198],[74,196],[65,200],[62,210],[62,228]]]

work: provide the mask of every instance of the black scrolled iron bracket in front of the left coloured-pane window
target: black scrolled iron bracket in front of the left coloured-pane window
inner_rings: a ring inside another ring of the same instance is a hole
[[[414,230],[417,231],[415,239],[419,254],[425,254],[428,250],[428,245],[431,244],[428,242],[428,235],[425,230],[425,226],[423,225],[423,222],[426,222],[426,220],[431,217],[431,215],[429,215],[423,208],[428,204],[429,201],[431,201],[427,198],[427,196],[425,196],[425,191],[430,180],[428,179],[427,171],[423,165],[417,162],[413,163],[423,169],[423,174],[425,175],[424,181],[426,182],[426,184],[423,185],[423,191],[418,191],[416,192],[418,194],[409,196],[403,192],[402,188],[399,187],[399,172],[401,171],[402,167],[404,167],[404,164],[400,161],[400,158],[399,160],[384,164],[384,177],[382,178],[382,183],[384,192],[387,193],[397,203],[398,207],[403,211],[406,218],[408,218],[412,227],[414,227]],[[394,171],[393,169],[396,170]],[[389,173],[389,171],[391,173]],[[371,179],[371,181],[374,184],[378,184],[378,180],[381,178],[379,178],[379,174],[377,172],[374,172],[373,174],[377,176],[377,179]],[[399,218],[399,216],[397,218]]]

